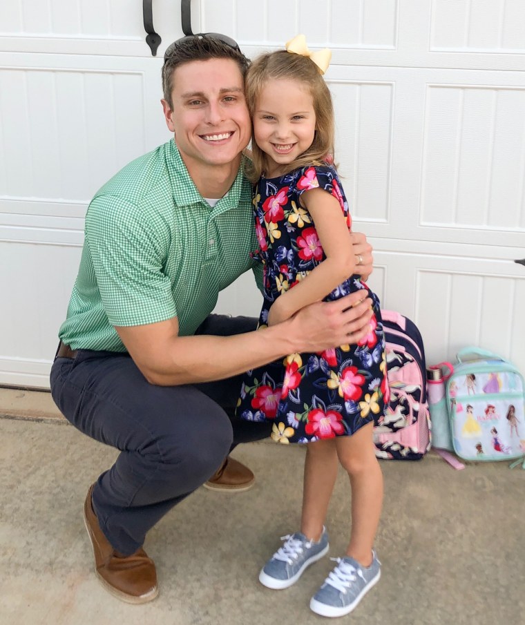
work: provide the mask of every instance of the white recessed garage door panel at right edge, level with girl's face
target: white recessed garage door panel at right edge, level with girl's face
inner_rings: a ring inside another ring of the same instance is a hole
[[[423,222],[520,228],[525,90],[432,85],[426,111]]]

